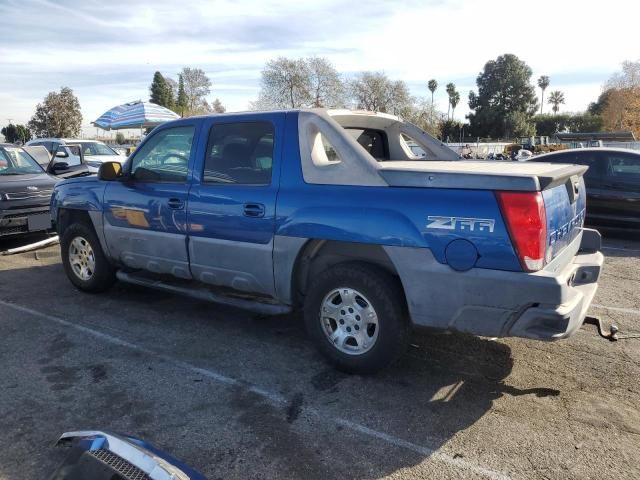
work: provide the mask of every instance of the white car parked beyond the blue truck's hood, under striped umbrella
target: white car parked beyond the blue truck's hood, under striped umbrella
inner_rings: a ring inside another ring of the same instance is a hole
[[[68,145],[80,145],[84,160],[90,172],[97,173],[103,162],[123,163],[126,157],[97,140],[81,140],[70,138],[37,138],[26,143],[26,146],[42,145],[53,158],[65,159],[70,166],[77,165],[79,158],[73,154]]]

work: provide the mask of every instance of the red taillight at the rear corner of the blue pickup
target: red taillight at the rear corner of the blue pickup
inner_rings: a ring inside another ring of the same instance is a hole
[[[496,192],[511,242],[526,272],[544,266],[547,215],[540,192]]]

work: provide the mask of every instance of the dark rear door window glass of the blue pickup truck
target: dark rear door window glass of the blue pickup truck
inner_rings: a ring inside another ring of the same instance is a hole
[[[203,182],[269,185],[273,141],[271,122],[213,125],[207,143]]]

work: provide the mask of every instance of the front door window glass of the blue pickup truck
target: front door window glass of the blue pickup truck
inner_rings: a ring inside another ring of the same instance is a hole
[[[131,176],[143,182],[184,182],[195,127],[167,128],[153,135],[131,161]]]

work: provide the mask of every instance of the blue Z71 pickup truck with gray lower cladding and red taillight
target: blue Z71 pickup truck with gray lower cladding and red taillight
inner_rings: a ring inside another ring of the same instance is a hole
[[[157,127],[122,168],[59,183],[51,212],[79,289],[119,279],[263,314],[301,308],[348,371],[392,362],[412,326],[575,333],[603,263],[583,228],[586,167],[454,160],[381,113],[193,117]]]

